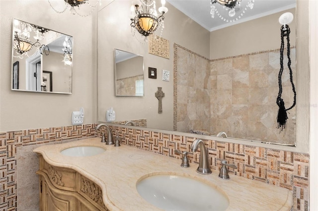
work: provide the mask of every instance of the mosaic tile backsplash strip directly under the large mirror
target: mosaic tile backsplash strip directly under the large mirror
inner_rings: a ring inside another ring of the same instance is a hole
[[[134,146],[165,156],[179,158],[174,149],[190,152],[195,138],[190,136],[158,133],[123,127],[112,127],[113,135],[122,138],[122,144]],[[307,211],[309,201],[309,155],[290,151],[253,147],[212,140],[203,140],[209,152],[212,170],[219,170],[221,160],[234,163],[238,169],[230,172],[237,176],[254,179],[288,188],[293,192],[293,209]],[[189,153],[190,162],[198,163],[199,153]],[[234,176],[234,175],[232,175]]]

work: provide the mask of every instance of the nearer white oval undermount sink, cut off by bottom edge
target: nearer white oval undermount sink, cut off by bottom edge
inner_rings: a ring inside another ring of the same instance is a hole
[[[197,179],[176,175],[154,175],[136,184],[138,193],[152,205],[167,211],[224,211],[228,197]]]

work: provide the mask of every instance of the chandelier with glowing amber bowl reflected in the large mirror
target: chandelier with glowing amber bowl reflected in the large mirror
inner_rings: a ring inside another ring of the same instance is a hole
[[[164,28],[163,19],[164,13],[168,8],[164,6],[165,0],[161,0],[161,6],[158,11],[161,13],[157,17],[156,1],[155,0],[134,0],[131,6],[131,29],[132,34],[135,36],[137,30],[146,39],[149,35],[154,34],[161,25],[161,33]],[[160,33],[160,36],[161,36]]]

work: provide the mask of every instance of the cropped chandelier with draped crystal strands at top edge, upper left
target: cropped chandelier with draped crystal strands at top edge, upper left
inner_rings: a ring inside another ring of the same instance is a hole
[[[86,17],[86,16],[90,15],[94,11],[97,4],[98,3],[100,4],[100,0],[96,0],[95,4],[90,3],[92,0],[64,0],[64,5],[62,6],[62,8],[57,9],[57,7],[61,7],[61,5],[58,5],[56,3],[53,5],[52,2],[60,2],[62,0],[48,0],[48,1],[49,1],[50,6],[57,13],[65,12],[66,9],[70,6],[70,12],[72,14],[78,14],[79,16],[82,16],[82,17]],[[86,6],[84,6],[84,5],[86,5]],[[84,13],[86,12],[87,14],[85,14],[85,15],[81,14],[79,12],[79,6],[81,6],[82,10],[84,10],[83,12]]]

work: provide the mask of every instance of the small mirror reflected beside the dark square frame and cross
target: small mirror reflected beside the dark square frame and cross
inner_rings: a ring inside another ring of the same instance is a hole
[[[116,96],[144,96],[144,57],[115,49]]]

